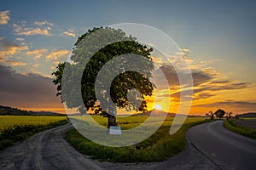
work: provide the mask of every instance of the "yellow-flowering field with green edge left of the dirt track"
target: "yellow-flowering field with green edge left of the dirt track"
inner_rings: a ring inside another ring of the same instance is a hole
[[[35,133],[66,123],[66,116],[0,116],[0,150]]]

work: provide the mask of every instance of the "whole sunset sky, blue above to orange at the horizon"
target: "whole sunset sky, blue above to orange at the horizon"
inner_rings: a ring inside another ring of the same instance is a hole
[[[139,23],[165,32],[186,54],[194,81],[190,114],[256,111],[255,8],[253,0],[2,0],[0,105],[65,112],[51,72],[77,38],[96,26]],[[177,105],[178,91],[171,96]]]

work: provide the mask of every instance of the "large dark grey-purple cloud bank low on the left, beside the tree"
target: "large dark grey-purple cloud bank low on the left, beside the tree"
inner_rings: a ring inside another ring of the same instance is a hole
[[[0,65],[0,103],[17,107],[61,107],[52,79],[39,74],[17,73]]]

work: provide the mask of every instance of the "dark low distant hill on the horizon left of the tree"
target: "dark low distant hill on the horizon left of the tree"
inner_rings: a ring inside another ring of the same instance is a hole
[[[1,115],[13,115],[13,116],[62,116],[60,113],[50,111],[26,111],[18,108],[12,108],[9,106],[0,105],[0,116]]]

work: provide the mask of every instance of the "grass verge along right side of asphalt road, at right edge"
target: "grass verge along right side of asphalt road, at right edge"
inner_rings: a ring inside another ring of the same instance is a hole
[[[230,131],[233,131],[235,133],[239,133],[249,138],[256,139],[256,130],[242,127],[241,125],[236,123],[236,120],[225,120],[224,127],[230,129]]]

